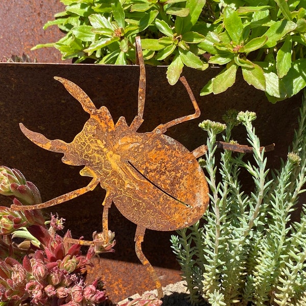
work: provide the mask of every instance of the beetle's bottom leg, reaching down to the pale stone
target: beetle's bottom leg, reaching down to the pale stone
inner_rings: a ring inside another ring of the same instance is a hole
[[[157,289],[157,295],[158,298],[162,298],[164,296],[163,289],[162,289],[162,284],[152,267],[152,265],[149,263],[149,261],[146,259],[144,256],[142,249],[141,249],[141,243],[143,242],[143,236],[145,232],[145,227],[141,225],[137,225],[136,228],[136,234],[135,234],[135,251],[137,254],[138,259],[141,261],[141,263],[146,267],[148,273],[150,274],[151,278],[153,279],[156,289]]]

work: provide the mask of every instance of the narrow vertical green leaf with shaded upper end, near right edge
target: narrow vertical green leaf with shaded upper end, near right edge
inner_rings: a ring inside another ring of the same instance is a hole
[[[291,58],[292,58],[291,52],[292,52],[292,38],[291,36],[287,36],[282,47],[277,51],[276,54],[276,70],[279,79],[285,77],[285,75],[291,68]]]

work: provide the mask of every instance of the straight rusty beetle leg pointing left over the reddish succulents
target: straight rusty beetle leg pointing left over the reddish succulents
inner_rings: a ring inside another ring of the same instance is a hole
[[[73,199],[79,195],[82,195],[88,191],[92,191],[94,190],[94,188],[98,185],[99,181],[94,178],[93,180],[91,180],[91,182],[83,188],[77,189],[77,190],[73,190],[70,191],[68,193],[65,193],[63,195],[60,195],[52,200],[46,201],[44,203],[40,203],[40,204],[36,204],[36,205],[11,205],[11,209],[15,210],[15,211],[25,211],[25,210],[32,210],[32,209],[42,209],[42,208],[46,208],[46,207],[50,207],[50,206],[55,206],[58,205],[60,203],[66,202],[70,199]]]

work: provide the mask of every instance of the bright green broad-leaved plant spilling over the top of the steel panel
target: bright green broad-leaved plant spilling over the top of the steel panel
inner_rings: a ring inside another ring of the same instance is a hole
[[[135,63],[135,37],[146,64],[168,65],[170,84],[183,67],[224,69],[201,90],[218,94],[236,73],[265,91],[270,101],[306,86],[306,0],[61,0],[66,6],[44,29],[57,24],[66,35],[54,46],[63,59],[98,64]]]

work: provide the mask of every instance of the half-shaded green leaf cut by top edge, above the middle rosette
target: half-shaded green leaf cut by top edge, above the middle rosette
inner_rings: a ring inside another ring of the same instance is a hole
[[[189,9],[189,15],[187,17],[176,17],[174,22],[176,33],[184,34],[189,32],[193,25],[198,21],[205,4],[206,0],[187,0],[185,8]]]

